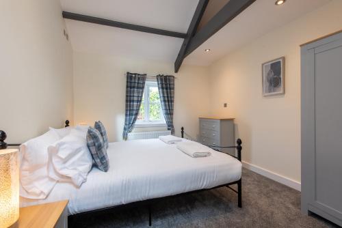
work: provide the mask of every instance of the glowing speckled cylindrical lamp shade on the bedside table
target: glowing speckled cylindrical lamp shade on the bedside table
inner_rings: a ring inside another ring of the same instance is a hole
[[[19,218],[18,149],[0,149],[0,228]]]

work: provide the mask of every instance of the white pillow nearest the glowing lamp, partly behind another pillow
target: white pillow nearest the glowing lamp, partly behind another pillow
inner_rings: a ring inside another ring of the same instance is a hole
[[[20,195],[29,199],[46,198],[56,181],[51,179],[47,171],[47,147],[59,140],[58,134],[49,130],[40,137],[30,139],[20,146],[21,152],[21,191]]]

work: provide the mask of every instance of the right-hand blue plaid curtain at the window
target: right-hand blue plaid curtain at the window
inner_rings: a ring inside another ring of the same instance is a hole
[[[159,97],[161,101],[161,108],[163,109],[168,130],[174,134],[173,126],[173,106],[174,106],[174,76],[171,75],[157,75],[157,83],[159,90]]]

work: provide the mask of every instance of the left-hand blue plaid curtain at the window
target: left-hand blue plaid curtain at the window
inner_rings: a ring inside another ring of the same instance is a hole
[[[124,115],[124,132],[122,137],[127,140],[127,134],[133,130],[139,114],[142,96],[144,94],[146,74],[127,72],[126,80],[126,112]]]

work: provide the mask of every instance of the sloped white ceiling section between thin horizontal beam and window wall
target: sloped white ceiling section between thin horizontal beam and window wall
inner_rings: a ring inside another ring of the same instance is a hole
[[[66,20],[74,51],[174,61],[183,39]]]

